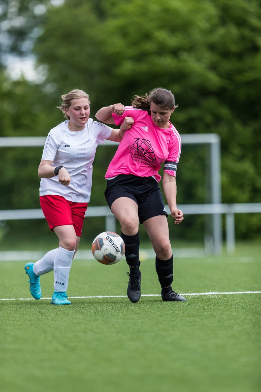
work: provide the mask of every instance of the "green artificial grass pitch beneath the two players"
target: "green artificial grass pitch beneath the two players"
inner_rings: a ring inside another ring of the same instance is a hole
[[[73,261],[70,306],[25,300],[31,297],[25,262],[0,262],[1,390],[259,390],[261,294],[211,294],[260,290],[259,252],[244,251],[176,258],[173,288],[187,293],[185,303],[158,295],[130,303],[123,259],[110,266]],[[142,294],[160,294],[154,260],[142,261],[141,271]],[[52,272],[41,287],[50,298]],[[72,298],[95,296],[108,298]]]

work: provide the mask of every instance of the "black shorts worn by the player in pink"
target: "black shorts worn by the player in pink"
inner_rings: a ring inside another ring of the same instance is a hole
[[[107,180],[104,192],[111,209],[113,201],[128,197],[138,205],[140,223],[158,215],[167,215],[160,187],[152,177],[137,177],[132,174],[120,174]]]

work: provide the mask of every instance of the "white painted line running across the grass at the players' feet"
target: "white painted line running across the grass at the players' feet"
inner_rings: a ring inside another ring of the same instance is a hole
[[[209,291],[206,293],[179,293],[183,296],[199,296],[199,295],[221,295],[221,294],[256,294],[261,293],[261,291]],[[160,297],[161,294],[141,294],[142,297]],[[81,296],[81,297],[69,297],[69,298],[127,298],[126,295],[97,295],[97,296]],[[34,298],[0,298],[0,301],[30,301]],[[41,299],[51,299],[51,297],[43,297]],[[37,300],[36,300],[37,301]]]

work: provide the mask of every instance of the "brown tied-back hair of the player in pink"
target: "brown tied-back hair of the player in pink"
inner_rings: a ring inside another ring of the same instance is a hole
[[[171,93],[171,91],[162,89],[161,87],[151,90],[149,95],[147,93],[142,96],[134,95],[133,98],[134,99],[131,101],[133,107],[136,109],[146,110],[149,113],[151,102],[154,102],[156,105],[162,107],[162,109],[167,110],[172,110],[173,107],[178,107],[178,105],[175,105],[175,96]]]

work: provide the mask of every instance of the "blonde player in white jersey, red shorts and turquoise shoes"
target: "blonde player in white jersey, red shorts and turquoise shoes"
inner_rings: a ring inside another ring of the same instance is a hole
[[[59,247],[36,263],[27,263],[30,291],[41,298],[40,276],[54,270],[51,304],[70,305],[66,290],[72,259],[79,245],[92,186],[92,163],[98,143],[121,142],[123,129],[112,129],[90,118],[90,98],[73,89],[62,95],[64,122],[50,130],[38,168],[40,205],[59,238]]]

